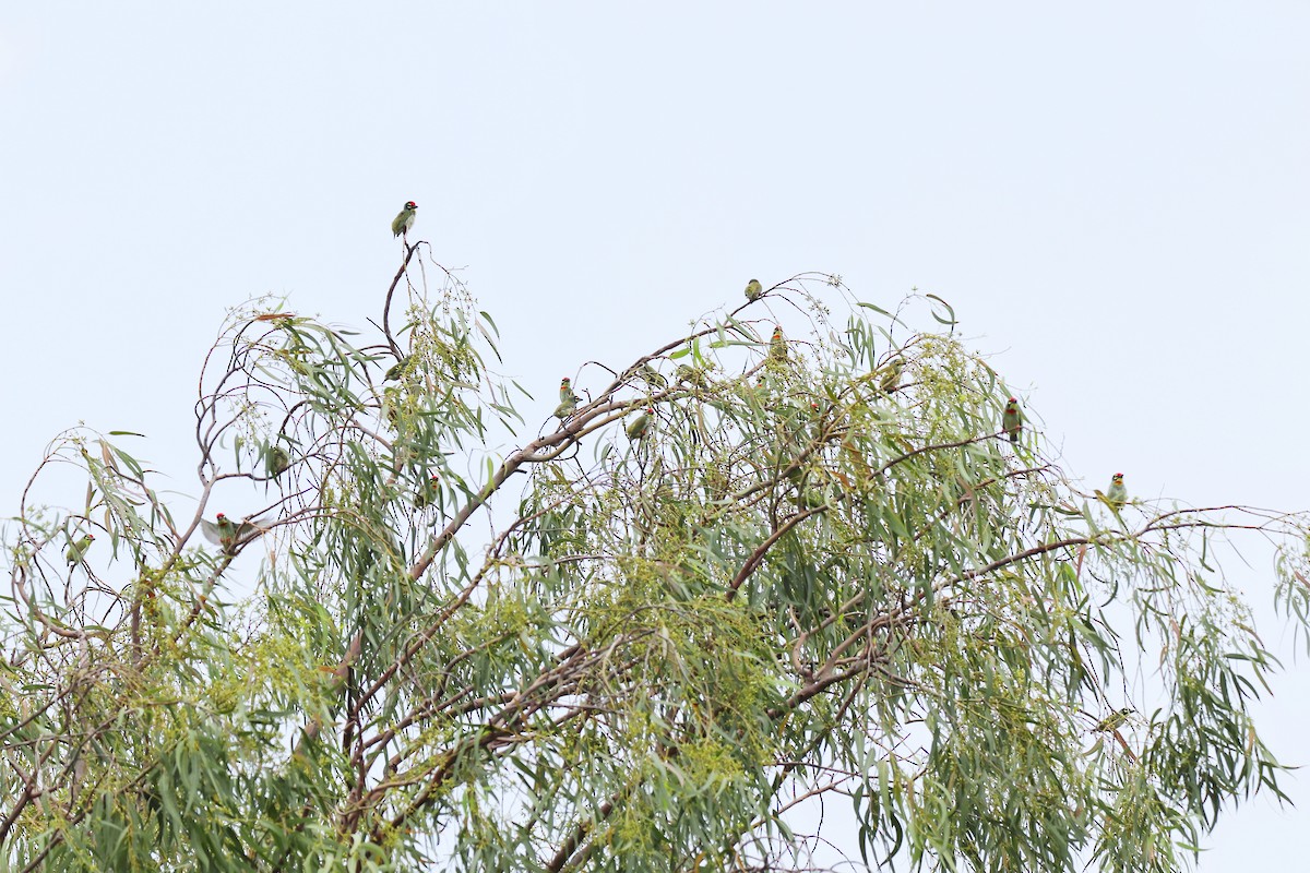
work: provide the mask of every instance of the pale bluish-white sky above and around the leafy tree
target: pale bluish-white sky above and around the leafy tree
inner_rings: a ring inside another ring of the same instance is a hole
[[[1310,5],[706,5],[7,4],[0,513],[79,420],[194,493],[225,309],[367,327],[406,199],[533,431],[583,360],[821,270],[950,301],[1087,488],[1310,507]],[[1267,738],[1310,764],[1254,546]],[[1200,869],[1303,860],[1285,787]]]

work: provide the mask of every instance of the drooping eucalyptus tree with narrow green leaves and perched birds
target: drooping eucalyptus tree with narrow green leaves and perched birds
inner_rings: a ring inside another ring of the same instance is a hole
[[[1276,541],[1303,630],[1300,516],[1108,510],[943,301],[833,276],[579,361],[537,425],[553,382],[496,374],[424,251],[372,339],[233,314],[198,500],[130,435],[51,444],[7,542],[5,869],[806,868],[840,801],[870,865],[1172,870],[1281,797],[1216,543]]]

